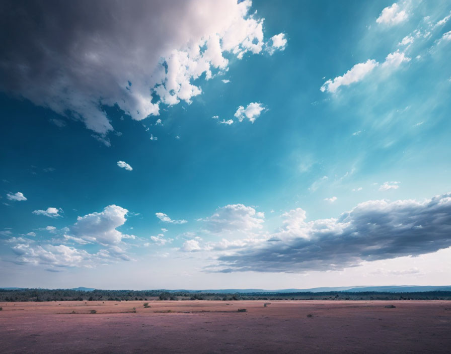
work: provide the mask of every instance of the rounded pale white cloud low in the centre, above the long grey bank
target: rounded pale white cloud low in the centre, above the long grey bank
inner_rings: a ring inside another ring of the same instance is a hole
[[[217,208],[209,218],[203,219],[207,230],[220,233],[223,231],[247,231],[261,229],[265,214],[243,204],[229,204]]]

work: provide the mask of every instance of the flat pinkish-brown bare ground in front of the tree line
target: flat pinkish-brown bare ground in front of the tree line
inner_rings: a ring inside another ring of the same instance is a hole
[[[151,307],[144,308],[145,302]],[[271,304],[264,307],[265,302]],[[396,308],[384,307],[390,304]],[[446,301],[68,301],[0,306],[4,354],[451,352],[451,302]],[[247,312],[238,312],[244,308]]]

